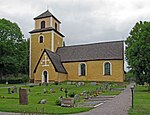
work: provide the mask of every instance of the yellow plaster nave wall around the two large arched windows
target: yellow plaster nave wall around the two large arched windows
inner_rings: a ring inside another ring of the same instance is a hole
[[[110,60],[112,64],[112,75],[103,75],[103,63],[105,60],[87,61],[87,75],[78,75],[78,66],[81,62],[63,63],[67,72],[68,80],[70,81],[115,81],[123,82],[124,80],[124,64],[123,60]]]

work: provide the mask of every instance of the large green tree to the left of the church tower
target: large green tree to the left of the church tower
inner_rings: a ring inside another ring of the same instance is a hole
[[[0,75],[27,73],[28,42],[16,23],[0,19]]]

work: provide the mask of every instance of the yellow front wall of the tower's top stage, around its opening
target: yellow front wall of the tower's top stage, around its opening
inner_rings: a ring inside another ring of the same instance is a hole
[[[36,19],[35,20],[35,29],[41,29],[41,22],[45,21],[45,28],[50,27],[50,17]]]

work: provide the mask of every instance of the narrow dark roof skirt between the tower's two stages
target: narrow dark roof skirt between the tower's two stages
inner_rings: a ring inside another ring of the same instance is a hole
[[[65,37],[63,34],[61,34],[60,32],[58,32],[56,29],[54,29],[53,27],[48,27],[48,28],[42,28],[42,29],[34,29],[32,31],[30,31],[29,33],[38,33],[38,32],[45,32],[45,31],[52,31],[54,30],[57,34],[59,34],[62,37]]]

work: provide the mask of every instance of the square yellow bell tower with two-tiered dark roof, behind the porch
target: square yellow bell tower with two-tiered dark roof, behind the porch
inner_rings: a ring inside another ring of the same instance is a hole
[[[34,82],[34,68],[44,49],[55,52],[63,47],[61,22],[48,10],[34,18],[35,28],[30,31],[30,82]]]

